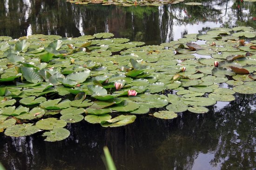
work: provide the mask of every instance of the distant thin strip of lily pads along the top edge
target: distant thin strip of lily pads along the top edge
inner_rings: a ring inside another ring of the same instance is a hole
[[[108,5],[119,5],[124,7],[130,6],[162,6],[163,4],[177,4],[184,2],[184,0],[67,0],[67,2],[74,4],[102,4],[104,6]],[[199,2],[188,2],[186,5],[202,5]]]

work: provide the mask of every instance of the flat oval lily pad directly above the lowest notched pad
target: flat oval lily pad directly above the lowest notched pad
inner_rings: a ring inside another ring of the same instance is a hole
[[[58,120],[57,118],[46,118],[39,120],[36,127],[43,130],[53,130],[54,128],[60,128],[67,125],[64,120]]]

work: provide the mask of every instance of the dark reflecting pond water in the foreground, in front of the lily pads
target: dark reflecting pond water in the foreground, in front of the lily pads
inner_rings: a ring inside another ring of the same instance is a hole
[[[224,108],[183,113],[174,120],[138,116],[120,128],[85,121],[69,125],[70,137],[44,142],[0,136],[1,162],[12,170],[103,170],[107,145],[118,170],[253,169],[256,95],[236,95]]]

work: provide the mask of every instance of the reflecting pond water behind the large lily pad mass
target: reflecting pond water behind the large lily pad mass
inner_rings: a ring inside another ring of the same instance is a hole
[[[31,34],[78,37],[111,32],[116,37],[160,44],[198,33],[202,27],[256,26],[256,4],[241,0],[199,0],[162,7],[76,5],[65,0],[2,0],[0,35]]]

